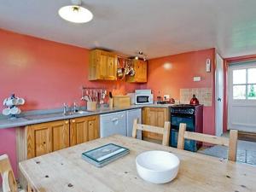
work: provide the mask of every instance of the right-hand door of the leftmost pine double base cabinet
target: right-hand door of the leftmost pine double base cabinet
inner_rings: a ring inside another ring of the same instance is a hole
[[[69,147],[69,120],[55,121],[51,127],[52,151]]]

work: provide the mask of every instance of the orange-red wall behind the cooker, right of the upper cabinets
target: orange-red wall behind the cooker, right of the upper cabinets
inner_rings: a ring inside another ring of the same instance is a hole
[[[206,60],[212,61],[211,73],[206,73]],[[167,63],[167,64],[166,64]],[[212,103],[214,102],[214,65],[215,49],[205,49],[165,56],[148,61],[148,83],[143,88],[152,89],[154,98],[171,95],[179,99],[179,90],[186,88],[212,88]],[[165,68],[169,66],[169,68]],[[200,82],[194,82],[193,77],[200,76]],[[204,108],[203,131],[215,134],[214,106]]]

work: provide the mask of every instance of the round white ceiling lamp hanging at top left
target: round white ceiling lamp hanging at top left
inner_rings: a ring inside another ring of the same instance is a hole
[[[73,23],[86,23],[92,20],[93,15],[90,10],[80,6],[81,0],[72,0],[73,5],[64,6],[59,9],[59,15],[62,19]]]

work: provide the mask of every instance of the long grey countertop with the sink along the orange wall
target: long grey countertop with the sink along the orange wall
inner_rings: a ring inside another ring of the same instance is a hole
[[[85,111],[84,113],[67,113],[65,115],[62,113],[62,109],[35,110],[25,112],[20,115],[19,118],[15,119],[8,119],[2,116],[2,118],[0,118],[0,129],[33,125],[61,119],[73,119],[103,113],[114,113],[136,108],[169,108],[172,105],[173,104],[131,105],[129,108],[99,108],[94,112]]]

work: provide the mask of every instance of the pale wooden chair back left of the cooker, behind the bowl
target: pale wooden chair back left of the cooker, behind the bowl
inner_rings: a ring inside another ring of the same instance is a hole
[[[164,127],[152,126],[152,125],[142,125],[137,123],[137,119],[133,121],[133,130],[132,137],[137,137],[137,130],[141,131],[149,131],[154,133],[159,133],[163,135],[163,145],[169,146],[169,138],[170,138],[170,129],[171,123],[166,121]]]

